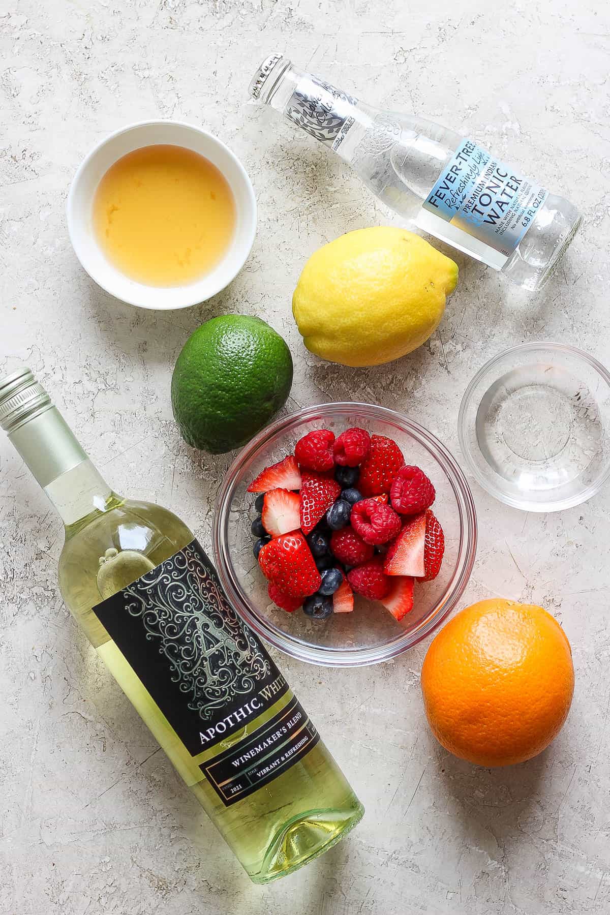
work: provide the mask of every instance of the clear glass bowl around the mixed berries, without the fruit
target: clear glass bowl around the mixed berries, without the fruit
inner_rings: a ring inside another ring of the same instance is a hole
[[[293,453],[298,439],[312,429],[331,429],[337,436],[354,425],[393,438],[407,463],[421,467],[436,489],[433,511],[444,529],[444,562],[437,578],[415,586],[414,607],[401,622],[380,603],[361,597],[356,597],[353,612],[328,619],[310,619],[302,609],[287,613],[269,599],[252,553],[256,496],[246,491],[252,479]],[[294,658],[348,667],[386,661],[407,651],[455,607],[475,561],[476,515],[464,474],[421,425],[370,404],[321,404],[279,419],[241,451],[220,486],[212,538],[222,586],[253,630]]]

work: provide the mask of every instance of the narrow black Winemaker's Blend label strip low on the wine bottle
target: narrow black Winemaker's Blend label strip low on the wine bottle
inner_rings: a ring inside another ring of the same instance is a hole
[[[202,763],[200,769],[225,807],[230,807],[290,769],[319,739],[303,706],[293,698],[237,746]]]

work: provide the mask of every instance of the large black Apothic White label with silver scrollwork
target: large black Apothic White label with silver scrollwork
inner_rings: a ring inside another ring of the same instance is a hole
[[[230,737],[288,689],[230,607],[197,540],[93,612],[191,756]]]

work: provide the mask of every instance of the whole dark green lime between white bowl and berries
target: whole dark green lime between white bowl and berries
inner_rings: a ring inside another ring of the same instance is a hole
[[[172,409],[182,437],[223,454],[241,447],[285,402],[293,360],[260,318],[211,318],[187,339],[172,377]]]

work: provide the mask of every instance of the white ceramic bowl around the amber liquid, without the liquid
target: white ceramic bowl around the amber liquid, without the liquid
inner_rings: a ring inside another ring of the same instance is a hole
[[[205,156],[227,179],[235,199],[235,231],[229,250],[209,274],[185,285],[152,286],[130,279],[110,263],[93,230],[93,196],[101,178],[117,159],[157,144],[184,146]],[[143,121],[117,130],[85,157],[70,186],[68,231],[80,264],[111,296],[141,308],[187,308],[216,295],[240,272],[254,241],[256,199],[240,160],[217,137],[194,124]]]

